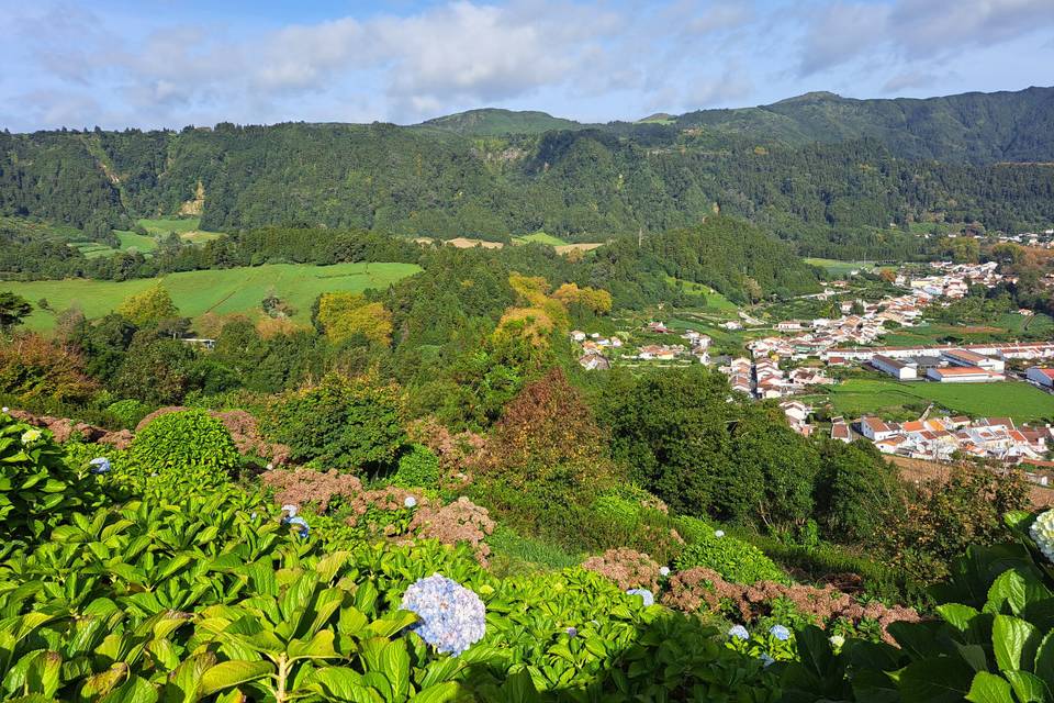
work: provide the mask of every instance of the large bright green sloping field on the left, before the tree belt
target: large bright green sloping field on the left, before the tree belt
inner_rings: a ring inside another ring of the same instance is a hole
[[[279,298],[296,309],[294,320],[307,322],[311,303],[319,293],[384,288],[418,270],[413,264],[272,264],[170,274],[160,280],[171,293],[180,313],[188,317],[197,317],[205,312],[259,314],[260,301],[273,288]],[[0,290],[14,291],[31,301],[45,298],[52,309],[58,311],[76,302],[86,315],[98,317],[116,309],[128,295],[154,286],[157,280],[11,281],[0,283]],[[54,324],[55,315],[41,310],[34,310],[26,322],[30,330],[37,331],[47,331]]]

